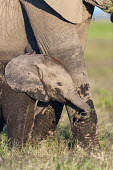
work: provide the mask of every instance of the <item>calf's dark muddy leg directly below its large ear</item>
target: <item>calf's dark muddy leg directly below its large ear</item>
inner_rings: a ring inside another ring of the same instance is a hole
[[[23,145],[32,132],[35,101],[24,93],[14,92],[7,83],[2,85],[2,110],[11,143]]]

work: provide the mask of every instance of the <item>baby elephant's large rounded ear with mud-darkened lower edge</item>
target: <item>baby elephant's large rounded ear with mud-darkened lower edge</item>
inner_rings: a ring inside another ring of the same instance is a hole
[[[43,74],[41,70],[33,65],[32,55],[21,55],[13,58],[5,68],[7,84],[13,90],[25,92],[36,100],[47,102],[49,97],[40,80],[41,74]]]

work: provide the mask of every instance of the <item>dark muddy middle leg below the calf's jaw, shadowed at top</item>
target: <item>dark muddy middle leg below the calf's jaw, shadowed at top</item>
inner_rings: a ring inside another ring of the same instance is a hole
[[[63,104],[56,101],[38,102],[32,127],[33,143],[53,135],[61,117],[62,109]]]

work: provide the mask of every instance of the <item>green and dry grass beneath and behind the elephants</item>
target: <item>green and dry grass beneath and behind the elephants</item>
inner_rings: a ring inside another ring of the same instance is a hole
[[[93,22],[85,52],[92,96],[98,115],[99,155],[72,149],[66,111],[54,136],[19,150],[0,135],[0,170],[112,170],[113,169],[113,49],[110,23]]]

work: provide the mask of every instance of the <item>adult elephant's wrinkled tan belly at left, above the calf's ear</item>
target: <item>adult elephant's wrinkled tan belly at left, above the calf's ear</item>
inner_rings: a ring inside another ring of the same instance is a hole
[[[0,60],[24,54],[28,44],[19,0],[0,0]]]

